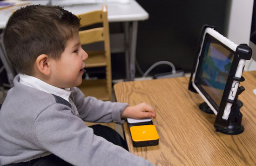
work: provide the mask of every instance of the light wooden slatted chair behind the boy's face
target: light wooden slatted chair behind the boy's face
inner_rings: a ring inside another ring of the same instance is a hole
[[[81,45],[88,45],[100,41],[104,42],[104,50],[87,52],[89,57],[85,60],[86,68],[103,66],[106,68],[106,79],[83,79],[78,88],[81,89],[85,96],[94,96],[103,101],[111,101],[112,76],[107,6],[103,5],[102,10],[80,14],[77,17],[81,18],[81,28],[102,23],[102,27],[80,31],[79,36]]]

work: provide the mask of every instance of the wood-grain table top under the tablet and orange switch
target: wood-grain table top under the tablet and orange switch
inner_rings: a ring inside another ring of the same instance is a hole
[[[147,102],[156,109],[153,123],[159,145],[133,147],[124,124],[129,151],[157,166],[256,166],[256,71],[244,72],[244,132],[225,135],[215,131],[216,115],[203,113],[199,94],[188,90],[189,77],[117,83],[117,102]]]

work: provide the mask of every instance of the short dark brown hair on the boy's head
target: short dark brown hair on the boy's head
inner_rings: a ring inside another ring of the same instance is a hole
[[[36,58],[61,58],[80,19],[60,6],[31,5],[15,11],[4,30],[7,57],[18,73],[32,75]]]

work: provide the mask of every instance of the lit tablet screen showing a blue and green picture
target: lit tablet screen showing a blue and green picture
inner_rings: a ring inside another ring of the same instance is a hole
[[[204,49],[202,50],[202,63],[199,64],[196,83],[198,88],[207,93],[216,109],[220,106],[225,89],[229,70],[234,58],[234,52],[206,34]]]

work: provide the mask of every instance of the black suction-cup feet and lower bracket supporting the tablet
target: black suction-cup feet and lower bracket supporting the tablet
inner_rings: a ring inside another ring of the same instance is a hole
[[[242,118],[243,114],[240,112],[240,108],[243,107],[243,102],[240,100],[237,100],[238,95],[240,95],[245,89],[243,86],[239,87],[237,89],[236,97],[235,100],[233,101],[233,105],[231,107],[231,111],[229,114],[229,119],[230,121],[229,126],[223,127],[223,126],[218,126],[214,125],[216,131],[221,132],[223,134],[228,134],[228,135],[236,135],[236,134],[241,134],[244,131],[244,127],[242,125]],[[209,106],[206,104],[206,102],[203,102],[199,105],[199,108],[208,114],[214,114],[213,111],[209,108]]]

